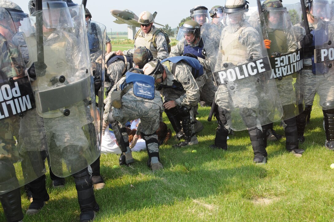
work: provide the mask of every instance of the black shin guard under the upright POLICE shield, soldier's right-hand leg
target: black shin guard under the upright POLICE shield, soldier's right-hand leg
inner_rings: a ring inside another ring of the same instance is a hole
[[[248,134],[254,151],[254,162],[262,162],[263,157],[267,157],[268,155],[264,147],[262,131],[258,128],[251,128],[248,129]]]

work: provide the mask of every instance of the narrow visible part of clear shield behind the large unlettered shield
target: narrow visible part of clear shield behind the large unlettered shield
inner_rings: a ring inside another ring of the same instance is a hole
[[[105,54],[106,54],[106,26],[95,21],[90,21],[87,27],[88,36],[94,35],[94,44],[97,45],[98,50],[91,53],[92,68],[94,79],[101,79],[101,88],[96,96],[100,112],[100,120],[103,120],[104,108],[104,77],[105,77]],[[91,39],[92,40],[92,39]],[[90,37],[88,37],[90,41]],[[89,43],[89,46],[93,44]],[[91,50],[91,48],[90,48]],[[102,121],[100,121],[100,141],[102,139]]]

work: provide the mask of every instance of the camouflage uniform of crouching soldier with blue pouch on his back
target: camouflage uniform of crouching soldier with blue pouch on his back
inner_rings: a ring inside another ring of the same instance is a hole
[[[114,108],[111,105],[111,93],[114,90],[120,90],[120,85],[125,81],[123,76],[113,87],[108,94],[107,104],[105,105],[105,111],[103,114],[103,120],[108,123],[108,114],[111,111],[112,116],[117,120],[122,127],[130,120],[140,118],[140,123],[137,128],[137,135],[141,133],[145,134],[144,139],[146,141],[150,139],[158,139],[155,132],[159,128],[159,117],[162,113],[162,100],[160,93],[155,91],[154,99],[145,99],[134,95],[132,88],[122,96],[122,107]],[[124,138],[125,140],[127,138]],[[148,143],[147,149],[149,153],[159,152],[157,143]]]

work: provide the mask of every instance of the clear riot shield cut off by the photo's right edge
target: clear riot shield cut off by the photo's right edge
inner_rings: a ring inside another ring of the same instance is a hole
[[[318,105],[322,109],[334,108],[334,21],[331,17],[329,2],[315,0],[310,3],[314,16],[313,34],[314,57],[311,56],[312,73],[317,81]]]

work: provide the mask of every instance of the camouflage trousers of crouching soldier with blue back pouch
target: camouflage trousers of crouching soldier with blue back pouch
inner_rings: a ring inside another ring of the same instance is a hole
[[[112,108],[112,116],[117,120],[122,127],[130,120],[140,118],[140,124],[137,131],[145,134],[144,140],[158,140],[155,132],[159,128],[160,106],[148,101],[123,101],[121,108]],[[146,136],[147,135],[147,136]],[[159,152],[157,143],[147,144],[149,153]]]

